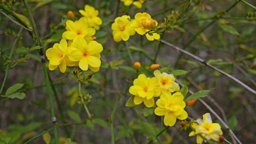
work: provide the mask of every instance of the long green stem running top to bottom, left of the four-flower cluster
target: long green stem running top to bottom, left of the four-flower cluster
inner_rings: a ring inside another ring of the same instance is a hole
[[[24,3],[24,6],[27,9],[28,18],[30,20],[30,24],[33,27],[33,32],[34,32],[34,34],[37,38],[37,44],[39,46],[42,46],[41,40],[40,40],[40,37],[39,37],[39,34],[38,34],[36,22],[33,18],[33,15],[32,15],[32,12],[31,12],[30,8],[28,7],[27,0],[23,0],[23,3]],[[45,63],[45,56],[44,56],[44,52],[43,52],[42,49],[39,50],[39,54],[40,54],[40,57],[41,57],[41,63],[42,63],[42,66],[43,66],[43,72],[44,72],[45,81],[46,81],[46,90],[47,90],[47,93],[48,93],[49,103],[50,103],[50,108],[51,108],[51,117],[52,117],[52,123],[53,123],[53,126],[54,126],[55,144],[58,144],[58,130],[57,130],[57,126],[56,126],[56,117],[55,117],[54,103],[53,103],[53,98],[52,98],[52,87],[51,87],[51,83],[49,81],[49,76],[48,76],[46,63]]]

